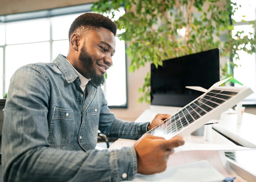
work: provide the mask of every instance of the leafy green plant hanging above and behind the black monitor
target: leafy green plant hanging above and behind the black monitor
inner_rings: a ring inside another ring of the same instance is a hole
[[[230,0],[99,0],[92,9],[112,18],[120,7],[126,13],[116,24],[118,29],[125,29],[118,36],[128,45],[126,53],[132,60],[129,71],[147,62],[158,67],[163,60],[217,47],[222,56],[230,55],[231,60],[239,59],[238,50],[255,52],[253,34],[242,37],[242,31],[232,38],[230,16],[239,7]],[[186,29],[184,37],[177,33],[182,28]],[[226,35],[224,41],[220,41],[220,35]],[[231,61],[230,66],[238,65]],[[222,66],[223,75],[232,75],[228,68]],[[149,73],[139,92],[142,95],[138,101],[149,103]]]

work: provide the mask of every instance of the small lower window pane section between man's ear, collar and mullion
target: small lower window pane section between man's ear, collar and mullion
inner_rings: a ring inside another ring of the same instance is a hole
[[[68,40],[58,40],[52,43],[52,58],[55,59],[58,54],[67,56],[69,48]]]

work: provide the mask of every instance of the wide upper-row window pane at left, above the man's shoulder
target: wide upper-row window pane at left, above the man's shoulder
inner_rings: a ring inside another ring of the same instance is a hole
[[[22,44],[49,41],[49,27],[49,20],[33,20],[7,24],[6,43]]]

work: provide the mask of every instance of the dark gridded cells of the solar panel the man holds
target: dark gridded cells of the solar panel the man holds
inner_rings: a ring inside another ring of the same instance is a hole
[[[243,92],[243,89],[236,89],[232,87],[213,88],[205,94],[202,94],[200,97],[198,97],[182,109],[175,112],[170,118],[167,118],[165,121],[157,125],[157,127],[148,131],[148,134],[160,134],[160,136],[171,134],[171,136],[174,136],[182,129],[189,127],[189,125],[199,120],[205,114],[208,114],[212,110],[215,110],[218,106],[225,104],[226,101],[232,99],[232,97],[236,96],[236,94],[238,94],[239,92]],[[248,91],[247,95],[251,94],[249,92],[252,92],[252,90]]]

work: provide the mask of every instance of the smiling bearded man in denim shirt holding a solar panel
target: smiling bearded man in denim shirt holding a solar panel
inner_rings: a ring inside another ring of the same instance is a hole
[[[150,123],[121,121],[99,87],[112,65],[116,30],[103,15],[85,13],[70,27],[67,57],[15,72],[4,112],[5,181],[116,182],[166,169],[182,138],[141,136],[169,115]],[[97,151],[98,129],[110,137],[141,138],[131,147]]]

